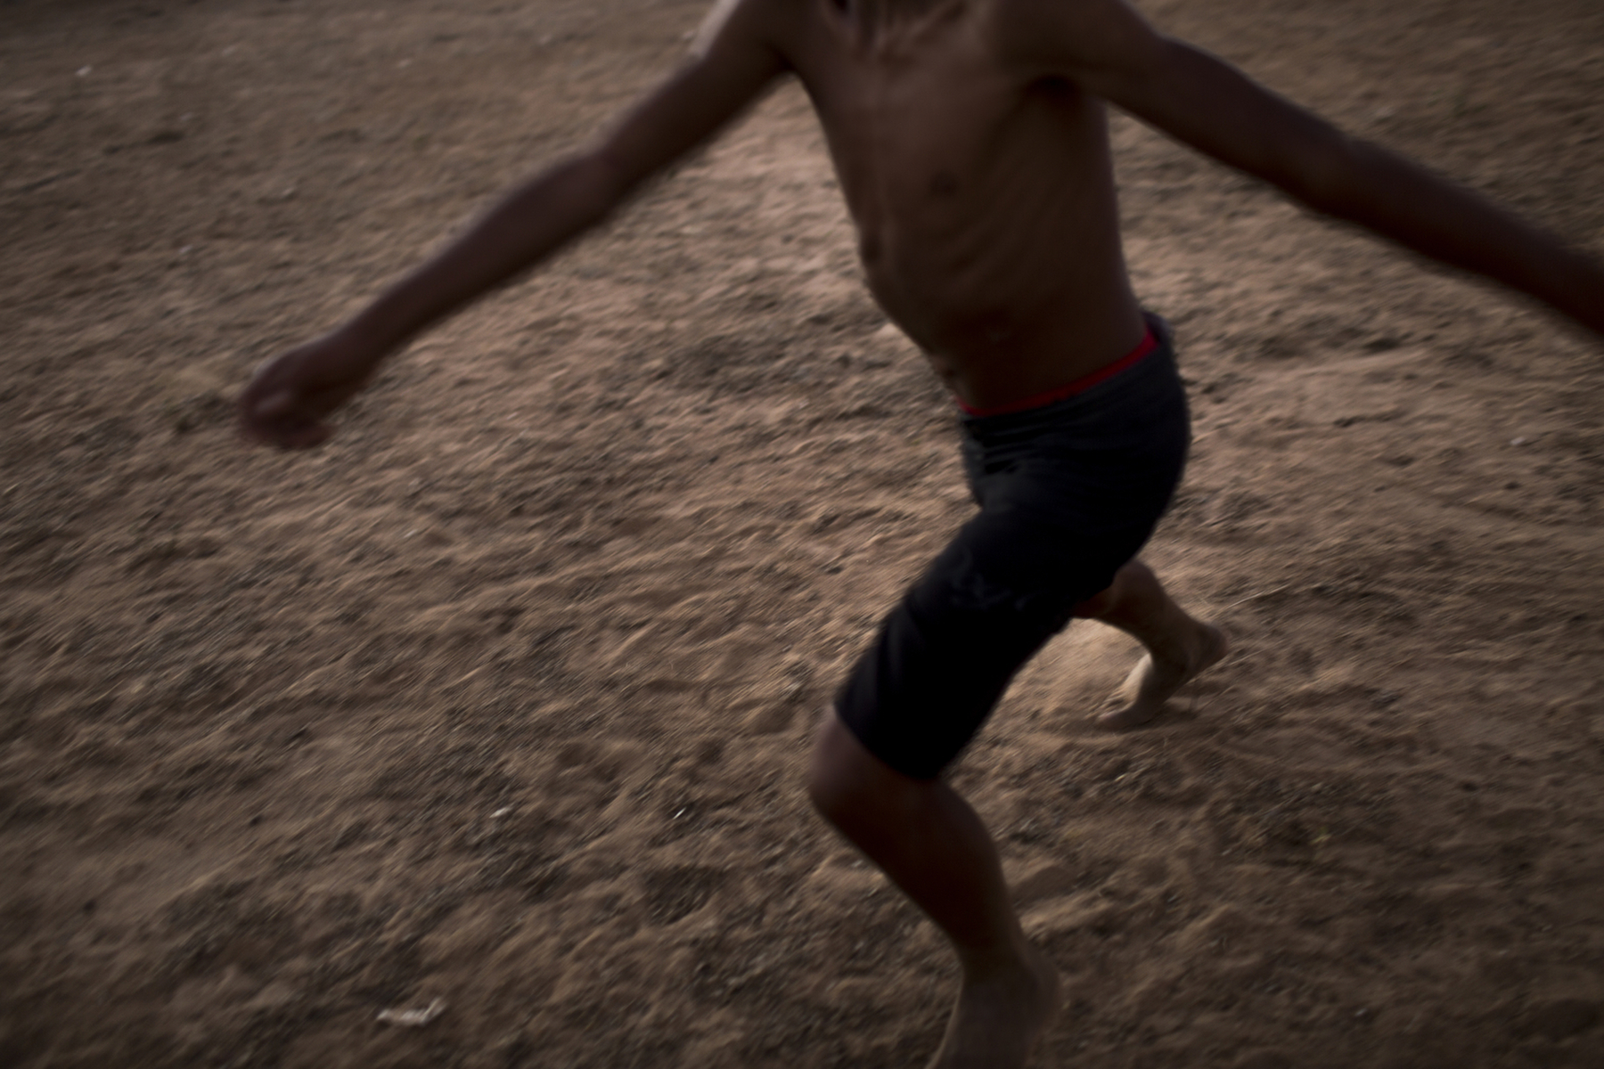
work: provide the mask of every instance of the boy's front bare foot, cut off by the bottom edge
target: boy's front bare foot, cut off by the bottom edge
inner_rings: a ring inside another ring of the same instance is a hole
[[[1015,970],[964,976],[929,1069],[1020,1069],[1059,1015],[1059,970],[1036,949]]]

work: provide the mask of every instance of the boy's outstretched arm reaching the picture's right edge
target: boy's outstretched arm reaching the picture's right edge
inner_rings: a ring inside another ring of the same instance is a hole
[[[1490,200],[1343,135],[1124,0],[1009,0],[1006,45],[1315,212],[1480,274],[1604,337],[1604,264]]]

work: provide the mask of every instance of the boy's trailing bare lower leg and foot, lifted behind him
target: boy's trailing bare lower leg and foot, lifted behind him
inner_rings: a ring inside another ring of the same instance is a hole
[[[1097,718],[1104,728],[1145,724],[1171,694],[1225,656],[1225,635],[1190,617],[1165,593],[1147,564],[1131,561],[1115,572],[1108,590],[1075,606],[1075,615],[1116,627],[1147,647],[1124,684],[1115,692],[1116,708]]]

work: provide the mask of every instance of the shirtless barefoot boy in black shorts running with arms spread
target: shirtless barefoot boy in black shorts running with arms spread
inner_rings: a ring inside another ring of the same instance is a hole
[[[593,226],[786,74],[818,111],[874,296],[969,412],[980,502],[840,691],[808,787],[958,952],[934,1064],[1020,1066],[1057,979],[991,838],[938,774],[1073,615],[1147,647],[1110,726],[1150,720],[1225,651],[1136,559],[1181,476],[1187,412],[1163,325],[1126,277],[1105,101],[1599,335],[1604,268],[1153,32],[1124,0],[719,0],[690,59],[610,133],[266,364],[241,397],[244,430],[324,441],[387,356]]]

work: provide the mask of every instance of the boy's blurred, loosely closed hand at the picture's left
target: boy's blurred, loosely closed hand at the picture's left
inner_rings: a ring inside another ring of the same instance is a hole
[[[367,385],[380,359],[342,332],[273,357],[239,394],[241,433],[279,449],[321,446],[334,434],[326,417]]]

